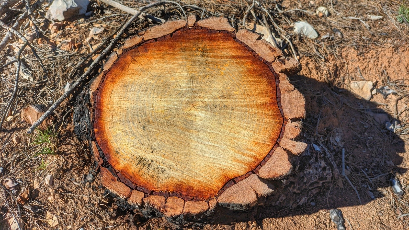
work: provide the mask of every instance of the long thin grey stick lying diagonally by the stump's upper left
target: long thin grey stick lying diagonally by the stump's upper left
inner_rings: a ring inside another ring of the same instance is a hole
[[[79,77],[76,81],[74,81],[71,84],[71,87],[68,88],[67,91],[64,92],[64,94],[58,98],[54,104],[52,104],[47,111],[45,111],[45,113],[36,121],[34,122],[34,124],[27,130],[27,133],[32,133],[34,131],[34,129],[36,129],[37,126],[39,126],[47,117],[49,117],[49,115],[51,115],[51,113],[58,108],[58,106],[69,96],[71,95],[71,93],[74,91],[74,89],[79,86],[80,83],[82,83],[87,77],[88,74],[90,74],[90,72],[94,69],[94,67],[105,57],[105,55],[112,49],[112,46],[114,44],[117,43],[117,41],[119,40],[119,38],[122,36],[122,34],[124,34],[125,29],[128,28],[128,26],[142,13],[142,10],[144,9],[148,9],[149,7],[153,7],[155,5],[161,4],[162,2],[155,2],[155,3],[151,3],[149,5],[146,5],[144,7],[139,8],[139,12],[137,14],[135,14],[132,18],[130,18],[128,20],[127,23],[125,23],[125,25],[122,26],[122,28],[118,31],[117,36],[112,39],[111,43],[108,45],[108,47],[105,48],[105,50],[103,50],[101,52],[101,54],[97,57],[97,59],[95,59],[90,67],[88,68],[88,70],[86,72],[84,72],[81,77]]]

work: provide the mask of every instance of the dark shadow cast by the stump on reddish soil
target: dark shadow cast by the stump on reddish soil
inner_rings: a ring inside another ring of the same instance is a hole
[[[328,83],[303,75],[290,79],[306,98],[307,112],[300,139],[308,143],[308,147],[297,159],[294,174],[273,196],[265,198],[263,205],[248,212],[223,210],[213,216],[211,222],[257,221],[262,226],[265,218],[360,205],[357,194],[340,174],[342,149],[345,150],[346,174],[356,187],[361,204],[373,201],[371,193],[375,199],[384,196],[378,189],[389,187],[394,174],[407,170],[397,166],[403,160],[398,153],[405,152],[404,141],[373,117],[380,114],[392,120],[385,111],[371,101],[358,99],[348,90]]]

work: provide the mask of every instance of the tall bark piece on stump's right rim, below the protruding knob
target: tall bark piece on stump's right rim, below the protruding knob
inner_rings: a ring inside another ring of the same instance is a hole
[[[284,117],[302,118],[305,117],[304,96],[294,86],[291,85],[287,75],[279,74],[281,89],[281,105],[283,106]]]

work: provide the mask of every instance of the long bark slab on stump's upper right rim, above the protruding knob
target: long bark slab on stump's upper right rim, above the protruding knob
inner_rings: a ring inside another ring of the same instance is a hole
[[[239,29],[236,33],[236,37],[268,62],[272,62],[283,55],[283,52],[279,48],[274,47],[265,40],[260,40],[260,35],[248,29]]]

